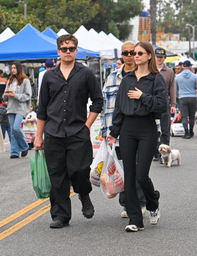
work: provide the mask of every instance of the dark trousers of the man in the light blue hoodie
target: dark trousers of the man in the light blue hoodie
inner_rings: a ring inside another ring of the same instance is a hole
[[[188,119],[190,124],[190,130],[193,130],[195,125],[195,113],[196,113],[196,97],[185,97],[179,99],[180,114],[182,118],[182,124],[185,130],[188,130]]]

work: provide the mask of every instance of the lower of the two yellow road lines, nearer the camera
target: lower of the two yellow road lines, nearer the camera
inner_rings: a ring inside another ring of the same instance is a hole
[[[73,197],[75,193],[71,192],[70,197]],[[36,220],[39,216],[42,216],[44,213],[50,210],[50,203],[42,208],[40,208],[38,211],[32,213],[30,216],[26,217],[22,221],[19,221],[18,223],[14,224],[10,228],[2,231],[0,233],[0,241],[7,236],[10,236],[11,234],[18,231],[18,229],[23,228],[23,226],[26,226],[26,224],[31,223],[31,221]]]

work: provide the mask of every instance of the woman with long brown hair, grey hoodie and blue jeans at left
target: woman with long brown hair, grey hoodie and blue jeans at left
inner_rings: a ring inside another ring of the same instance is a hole
[[[23,72],[22,64],[14,62],[12,64],[12,72],[7,82],[3,99],[8,101],[7,114],[11,129],[11,151],[10,158],[18,158],[28,154],[28,144],[20,125],[23,117],[30,111],[31,103],[31,84],[28,77]]]

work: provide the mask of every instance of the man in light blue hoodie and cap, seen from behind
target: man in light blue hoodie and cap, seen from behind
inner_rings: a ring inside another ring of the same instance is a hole
[[[197,77],[191,72],[191,62],[183,62],[183,71],[175,77],[177,85],[177,94],[179,95],[180,114],[182,116],[182,124],[185,130],[183,139],[190,139],[193,137],[193,127],[195,125],[196,113],[196,93]],[[188,120],[189,127],[188,129]]]

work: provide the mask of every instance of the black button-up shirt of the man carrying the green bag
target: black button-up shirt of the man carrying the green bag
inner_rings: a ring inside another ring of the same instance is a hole
[[[58,65],[44,74],[39,95],[38,119],[46,121],[45,131],[55,137],[71,136],[84,127],[87,100],[90,112],[100,113],[103,96],[92,70],[75,61],[66,80]]]

